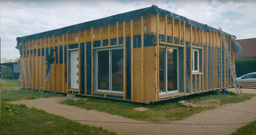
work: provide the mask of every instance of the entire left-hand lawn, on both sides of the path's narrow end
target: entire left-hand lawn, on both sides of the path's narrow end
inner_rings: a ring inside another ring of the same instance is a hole
[[[116,134],[103,130],[101,127],[80,124],[43,110],[28,108],[26,105],[6,103],[12,100],[66,96],[66,94],[54,95],[47,91],[44,91],[42,95],[37,95],[38,90],[12,89],[18,87],[17,80],[1,79],[0,134]],[[53,123],[46,124],[47,122]]]

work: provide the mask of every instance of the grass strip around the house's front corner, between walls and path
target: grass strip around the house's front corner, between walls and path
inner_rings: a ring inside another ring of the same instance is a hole
[[[174,120],[182,120],[188,116],[200,113],[207,109],[214,109],[220,105],[242,102],[244,100],[251,99],[251,97],[256,95],[244,94],[244,96],[245,98],[240,99],[233,92],[226,91],[226,95],[223,95],[222,92],[220,92],[220,95],[218,95],[215,91],[211,91],[206,94],[191,95],[182,99],[172,99],[168,102],[159,104],[139,104],[94,97],[86,97],[86,102],[82,102],[82,100],[75,101],[72,99],[66,99],[60,103],[66,105],[75,105],[77,107],[85,109],[95,109],[98,111],[107,112],[109,114],[119,115],[134,120],[168,123]],[[205,102],[207,99],[216,99],[219,100],[219,102],[208,103]],[[180,100],[185,100],[186,102],[198,104],[200,106],[194,108],[183,107],[178,104]],[[149,108],[150,110],[144,112],[135,111],[133,108],[137,107],[145,107]]]

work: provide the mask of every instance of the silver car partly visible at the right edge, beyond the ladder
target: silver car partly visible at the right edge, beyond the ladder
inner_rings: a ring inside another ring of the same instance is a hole
[[[256,87],[256,72],[247,73],[237,78],[240,87]]]

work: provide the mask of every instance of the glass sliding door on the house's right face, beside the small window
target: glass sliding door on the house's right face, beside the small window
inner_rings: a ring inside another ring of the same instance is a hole
[[[161,94],[178,91],[178,49],[159,48],[159,88]]]

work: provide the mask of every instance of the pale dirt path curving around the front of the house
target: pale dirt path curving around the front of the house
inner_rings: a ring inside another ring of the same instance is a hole
[[[236,89],[226,89],[236,92]],[[243,93],[256,94],[256,88],[242,88]],[[177,124],[146,124],[148,122],[127,119],[125,117],[110,115],[95,110],[87,110],[75,106],[62,105],[59,102],[67,97],[40,98],[35,100],[18,100],[8,102],[11,104],[25,104],[28,107],[43,109],[48,113],[66,117],[70,120],[81,121],[90,126],[102,126],[103,129],[114,131],[117,134],[230,134],[238,128],[256,119],[256,97],[245,102],[219,106],[213,110],[207,110],[199,114],[187,117]],[[238,112],[242,111],[242,112]],[[103,122],[88,122],[103,121]],[[125,122],[125,123],[108,123]],[[138,124],[134,124],[138,123]],[[224,124],[225,123],[225,124]],[[210,125],[220,124],[220,125]]]

